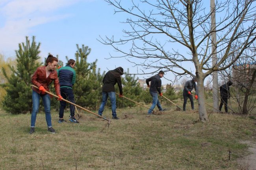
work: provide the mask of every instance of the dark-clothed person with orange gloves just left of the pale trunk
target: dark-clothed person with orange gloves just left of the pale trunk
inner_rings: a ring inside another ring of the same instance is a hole
[[[184,98],[183,111],[186,111],[187,97],[190,100],[192,110],[194,110],[194,101],[193,101],[193,96],[191,95],[191,91],[193,90],[193,88],[195,88],[195,91],[196,91],[195,98],[198,99],[196,82],[197,80],[193,78],[192,80],[188,80],[185,83],[184,90],[183,90],[183,98]]]

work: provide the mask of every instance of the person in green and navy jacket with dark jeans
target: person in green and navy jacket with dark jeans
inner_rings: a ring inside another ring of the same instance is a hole
[[[70,59],[65,67],[59,68],[58,77],[59,77],[59,84],[60,84],[60,92],[63,99],[67,99],[68,101],[74,103],[74,93],[72,90],[72,86],[76,82],[76,71],[74,67],[76,65],[76,61]],[[60,101],[60,108],[59,108],[59,123],[66,122],[63,119],[64,109],[66,108],[66,102]],[[70,104],[70,122],[79,123],[75,118],[75,106]]]

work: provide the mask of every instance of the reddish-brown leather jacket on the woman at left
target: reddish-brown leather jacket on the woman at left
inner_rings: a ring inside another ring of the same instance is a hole
[[[56,70],[52,71],[50,75],[46,78],[46,66],[41,66],[37,68],[31,79],[33,85],[37,87],[44,86],[45,90],[47,91],[49,91],[49,85],[52,81],[54,81],[54,88],[56,94],[60,95],[59,79]],[[39,94],[41,93],[41,91],[37,88],[32,87],[32,90]]]

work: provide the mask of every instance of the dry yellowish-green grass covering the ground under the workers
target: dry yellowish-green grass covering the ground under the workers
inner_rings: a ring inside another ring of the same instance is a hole
[[[56,134],[47,132],[41,112],[32,135],[30,114],[0,111],[0,170],[241,170],[236,158],[247,154],[247,145],[240,141],[255,140],[255,120],[211,113],[210,121],[201,123],[189,108],[171,106],[151,116],[140,106],[117,109],[121,119],[109,128],[89,113],[80,113],[80,124],[59,124],[54,112]]]

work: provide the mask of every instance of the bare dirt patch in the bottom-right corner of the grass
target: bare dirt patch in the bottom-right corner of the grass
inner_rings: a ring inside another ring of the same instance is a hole
[[[252,141],[243,141],[241,143],[248,144],[248,151],[251,153],[243,158],[237,159],[237,163],[245,170],[256,170],[256,143]]]

